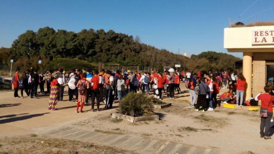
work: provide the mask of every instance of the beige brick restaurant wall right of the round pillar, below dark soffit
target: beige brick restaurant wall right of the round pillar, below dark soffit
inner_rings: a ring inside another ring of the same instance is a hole
[[[252,94],[264,92],[266,83],[266,60],[274,60],[274,53],[253,53]]]

